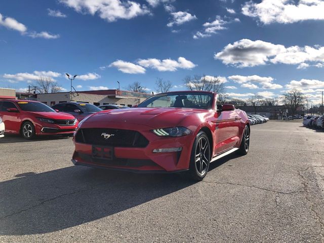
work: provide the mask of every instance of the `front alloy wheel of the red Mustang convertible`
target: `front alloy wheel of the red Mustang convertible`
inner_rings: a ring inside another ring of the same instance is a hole
[[[201,137],[198,140],[195,151],[195,166],[198,174],[203,176],[209,165],[210,149],[209,143],[205,137]]]

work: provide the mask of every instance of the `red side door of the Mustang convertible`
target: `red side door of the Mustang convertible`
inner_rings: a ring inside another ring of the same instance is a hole
[[[240,118],[235,110],[217,110],[214,117],[216,118],[214,121],[216,123],[215,152],[220,153],[233,147],[239,140]]]

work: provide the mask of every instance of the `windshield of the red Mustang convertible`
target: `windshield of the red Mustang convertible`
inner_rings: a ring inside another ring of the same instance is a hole
[[[172,92],[148,98],[138,107],[211,109],[214,95],[205,92]]]

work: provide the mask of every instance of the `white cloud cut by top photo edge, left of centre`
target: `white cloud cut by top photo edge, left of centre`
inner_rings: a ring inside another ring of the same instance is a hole
[[[145,5],[134,1],[120,0],[59,0],[66,6],[73,8],[79,13],[98,14],[100,18],[109,22],[117,19],[132,19],[139,15],[149,14]],[[152,0],[151,3],[156,1]]]

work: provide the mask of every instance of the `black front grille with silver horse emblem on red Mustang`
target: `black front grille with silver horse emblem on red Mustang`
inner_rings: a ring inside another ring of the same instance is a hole
[[[75,141],[112,147],[144,148],[148,145],[148,140],[137,131],[111,128],[80,129],[75,136]]]

